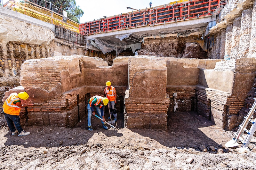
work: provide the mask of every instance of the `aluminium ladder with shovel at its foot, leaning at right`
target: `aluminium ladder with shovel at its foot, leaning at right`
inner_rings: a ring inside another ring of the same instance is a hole
[[[226,147],[234,147],[234,146],[237,146],[238,145],[238,142],[242,142],[242,148],[245,148],[245,147],[248,147],[252,137],[253,137],[253,134],[255,132],[255,129],[256,129],[256,123],[255,123],[255,120],[252,120],[252,115],[253,113],[256,111],[255,108],[256,108],[256,98],[253,98],[255,101],[252,105],[252,107],[250,108],[250,112],[248,113],[248,115],[246,117],[244,117],[244,122],[239,125],[239,129],[237,130],[237,132],[235,133],[235,136],[233,137],[232,140],[228,141],[225,146]],[[251,125],[251,128],[249,130],[246,129],[248,123],[251,122],[252,125]],[[242,135],[243,133],[246,132],[247,135],[246,137],[243,139],[242,138]]]

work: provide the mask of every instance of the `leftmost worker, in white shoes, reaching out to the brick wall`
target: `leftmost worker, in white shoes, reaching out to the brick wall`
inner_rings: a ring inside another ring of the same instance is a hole
[[[22,105],[21,100],[27,100],[28,99],[28,93],[26,92],[20,92],[17,93],[11,93],[10,96],[4,101],[3,105],[3,113],[7,122],[7,126],[9,127],[10,131],[12,132],[12,135],[15,135],[19,133],[20,136],[27,136],[30,134],[30,132],[25,132],[20,126],[20,108],[21,107],[28,107],[33,106],[34,103],[30,103],[28,105]],[[14,125],[15,127],[14,127]]]

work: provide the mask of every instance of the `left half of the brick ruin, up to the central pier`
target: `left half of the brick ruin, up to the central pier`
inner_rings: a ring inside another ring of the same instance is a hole
[[[21,66],[20,84],[35,103],[24,115],[29,125],[73,127],[86,113],[90,96],[103,96],[109,80],[116,87],[118,109],[124,110],[124,92],[128,86],[128,58],[116,59],[113,66],[98,57],[58,56],[25,61]],[[120,78],[121,77],[121,78]],[[17,92],[13,88],[6,93]],[[89,97],[88,97],[89,96]],[[23,112],[23,111],[22,111]],[[22,113],[23,114],[23,113]]]

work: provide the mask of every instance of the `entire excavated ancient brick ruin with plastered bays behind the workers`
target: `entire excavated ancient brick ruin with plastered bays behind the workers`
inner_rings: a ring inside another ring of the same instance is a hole
[[[21,66],[22,86],[6,92],[5,98],[11,92],[28,92],[31,98],[24,103],[35,105],[21,111],[23,123],[73,127],[87,115],[87,100],[103,96],[109,80],[116,87],[117,112],[124,114],[125,127],[166,129],[168,115],[194,110],[231,129],[254,81],[255,62],[127,56],[108,66],[88,56],[31,59]],[[223,64],[234,69],[223,70]],[[244,84],[248,86],[241,91]]]

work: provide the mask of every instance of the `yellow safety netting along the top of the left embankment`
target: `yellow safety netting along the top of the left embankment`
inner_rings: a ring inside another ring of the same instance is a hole
[[[57,26],[63,26],[66,29],[72,30],[74,32],[79,33],[79,24],[76,22],[72,22],[70,20],[67,20],[67,23],[63,22],[60,15],[55,14],[54,12],[33,6],[28,3],[13,3],[9,1],[11,4],[14,4],[14,7],[12,6],[13,11],[17,11],[19,13],[28,15],[30,17],[42,20],[44,22],[48,22]]]

